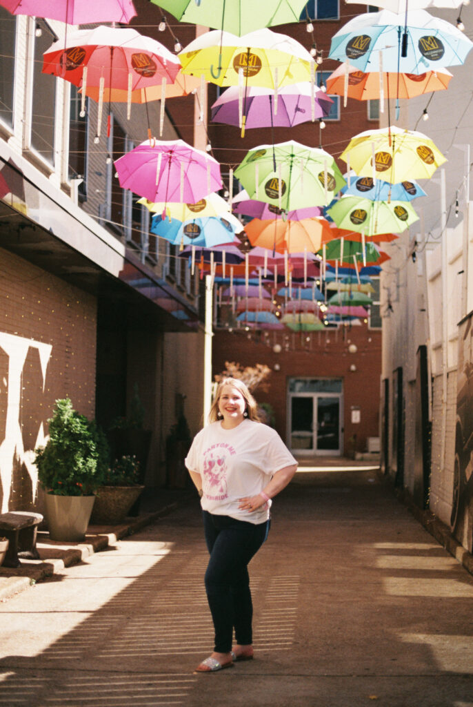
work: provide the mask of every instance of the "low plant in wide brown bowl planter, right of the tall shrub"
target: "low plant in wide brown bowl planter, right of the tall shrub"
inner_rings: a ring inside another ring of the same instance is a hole
[[[124,455],[115,460],[105,474],[104,483],[97,489],[92,508],[91,522],[116,525],[126,518],[141,491],[139,483],[140,462],[134,455]]]

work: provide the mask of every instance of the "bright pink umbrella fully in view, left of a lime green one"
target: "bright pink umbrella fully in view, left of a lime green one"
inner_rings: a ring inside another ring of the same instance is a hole
[[[195,204],[223,187],[217,160],[184,140],[146,140],[114,164],[120,186],[149,201]]]

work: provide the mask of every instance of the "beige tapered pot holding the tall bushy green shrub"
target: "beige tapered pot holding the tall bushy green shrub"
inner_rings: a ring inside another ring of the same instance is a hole
[[[46,494],[46,518],[52,540],[80,542],[85,537],[95,496]]]

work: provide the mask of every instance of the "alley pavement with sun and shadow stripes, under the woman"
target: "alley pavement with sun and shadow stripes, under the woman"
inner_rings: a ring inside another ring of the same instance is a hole
[[[250,565],[255,660],[212,650],[198,498],[0,604],[0,706],[473,707],[473,577],[373,470],[298,472]]]

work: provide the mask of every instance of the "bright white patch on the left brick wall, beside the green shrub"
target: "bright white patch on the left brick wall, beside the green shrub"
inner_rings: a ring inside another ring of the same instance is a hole
[[[0,513],[34,501],[34,450],[45,441],[37,409],[51,352],[51,344],[0,332]],[[28,481],[24,498],[11,498],[12,489],[23,497],[16,477]]]

